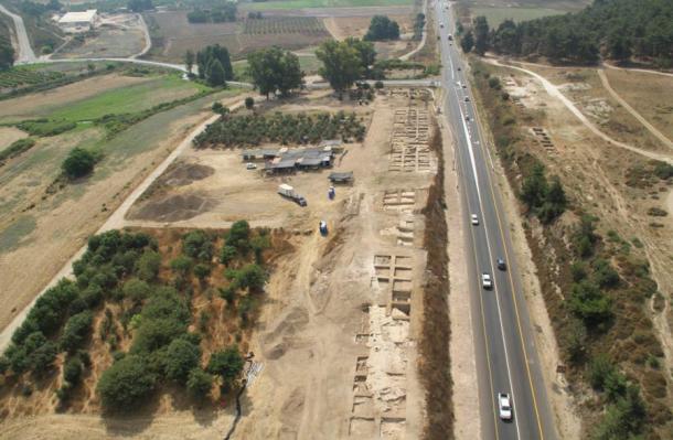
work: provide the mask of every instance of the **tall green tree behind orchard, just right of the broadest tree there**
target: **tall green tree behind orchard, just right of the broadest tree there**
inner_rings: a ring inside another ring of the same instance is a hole
[[[320,75],[330,83],[340,99],[364,74],[359,51],[348,42],[327,41],[316,51],[316,56],[322,62]]]

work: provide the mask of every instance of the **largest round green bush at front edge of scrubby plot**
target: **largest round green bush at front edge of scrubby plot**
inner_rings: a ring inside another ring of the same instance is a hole
[[[153,391],[156,382],[143,357],[129,355],[103,372],[96,390],[104,408],[130,410]]]

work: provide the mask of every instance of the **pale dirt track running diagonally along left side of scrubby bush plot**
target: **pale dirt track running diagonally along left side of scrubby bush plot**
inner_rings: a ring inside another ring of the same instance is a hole
[[[235,110],[235,109],[242,107],[244,105],[244,101],[241,100],[241,97],[236,97],[228,101],[224,101],[223,104],[228,106],[232,110]],[[142,193],[152,184],[152,182],[165,171],[165,169],[175,160],[175,158],[178,158],[186,148],[189,148],[192,144],[192,140],[194,139],[194,137],[196,137],[201,131],[203,131],[209,124],[212,124],[213,121],[215,121],[215,119],[217,119],[217,117],[218,117],[217,115],[212,116],[205,122],[199,125],[194,130],[192,130],[192,132],[178,146],[178,148],[175,148],[173,150],[173,152],[171,154],[169,154],[169,157],[165,158],[163,160],[163,162],[161,162],[161,164],[159,164],[159,167],[157,167],[154,169],[154,171],[152,171],[152,173],[149,174],[142,181],[142,183],[140,183],[140,185],[138,185],[136,187],[136,190],[133,190],[133,192],[121,203],[121,205],[119,205],[119,207],[113,213],[113,215],[110,215],[108,217],[108,219],[103,224],[103,226],[100,226],[100,228],[97,230],[97,234],[100,234],[105,230],[117,229],[117,228],[124,227],[125,226],[124,216],[126,215],[128,210],[133,205],[133,203],[138,200],[138,197],[140,197],[142,195]],[[19,312],[14,316],[12,322],[2,330],[2,333],[0,333],[0,352],[3,352],[8,347],[9,343],[11,341],[12,334],[21,325],[21,323],[25,320],[28,312],[31,310],[31,308],[33,307],[33,304],[35,303],[38,298],[40,298],[44,293],[44,291],[46,291],[46,289],[55,286],[61,278],[70,277],[72,275],[73,262],[75,260],[77,260],[79,257],[82,257],[82,255],[84,254],[85,250],[86,250],[86,246],[82,247],[65,264],[65,266],[52,278],[52,280],[49,282],[49,285],[45,286],[44,290],[42,290],[42,292],[40,292],[40,294],[38,294],[33,299],[33,301],[31,301],[30,304],[28,304],[21,312]]]

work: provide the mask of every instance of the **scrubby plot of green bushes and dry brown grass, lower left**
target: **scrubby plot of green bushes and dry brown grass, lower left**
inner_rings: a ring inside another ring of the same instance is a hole
[[[266,261],[281,242],[245,221],[227,232],[92,237],[75,279],[49,289],[14,332],[0,358],[6,387],[25,399],[55,393],[63,408],[81,407],[93,387],[107,411],[158,393],[217,401],[239,386]]]

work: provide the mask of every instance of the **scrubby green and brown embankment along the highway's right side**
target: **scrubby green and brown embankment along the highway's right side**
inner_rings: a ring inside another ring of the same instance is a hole
[[[663,350],[648,313],[659,296],[642,244],[605,232],[591,206],[577,206],[563,181],[548,176],[521,115],[492,77],[473,62],[474,89],[495,148],[522,202],[524,229],[573,393],[581,398],[584,437],[667,438],[671,419]],[[654,167],[654,165],[653,165]],[[662,167],[655,179],[670,179]]]

